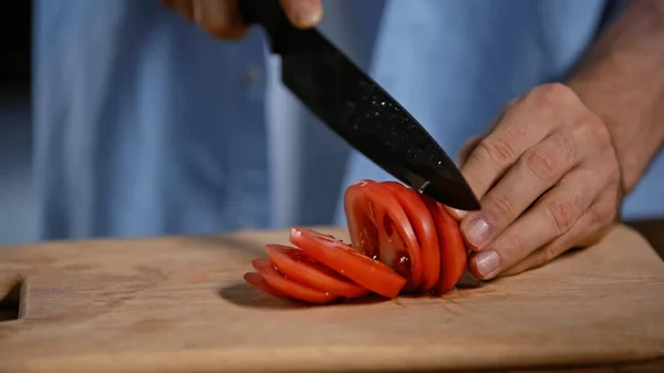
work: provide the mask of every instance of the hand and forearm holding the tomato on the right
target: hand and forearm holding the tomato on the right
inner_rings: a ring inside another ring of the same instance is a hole
[[[457,216],[476,277],[538,267],[608,231],[664,144],[662,3],[629,2],[567,86],[512,102],[461,152],[483,204]]]

